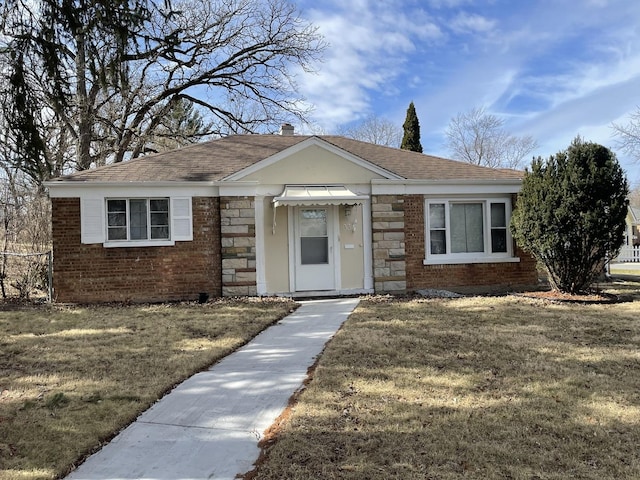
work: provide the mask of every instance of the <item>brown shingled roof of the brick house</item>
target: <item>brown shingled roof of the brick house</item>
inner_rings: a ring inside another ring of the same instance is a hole
[[[185,182],[220,181],[312,136],[232,135],[178,150],[140,157],[54,179],[55,182]],[[515,180],[522,172],[384,147],[350,138],[316,136],[405,179]]]

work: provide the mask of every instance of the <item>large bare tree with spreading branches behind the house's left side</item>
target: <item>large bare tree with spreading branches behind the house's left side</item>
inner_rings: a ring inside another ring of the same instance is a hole
[[[143,155],[183,100],[208,117],[198,135],[303,120],[292,72],[324,48],[287,0],[7,0],[0,13],[8,83],[20,87],[11,111],[24,112],[10,126],[38,181],[60,157],[45,145],[50,125],[83,170]]]

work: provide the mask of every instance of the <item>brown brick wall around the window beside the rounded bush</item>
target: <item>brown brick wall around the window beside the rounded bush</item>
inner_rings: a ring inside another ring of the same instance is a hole
[[[423,288],[461,291],[505,290],[536,285],[535,260],[516,248],[518,263],[423,265],[425,258],[424,197],[406,195],[405,242],[407,291]]]

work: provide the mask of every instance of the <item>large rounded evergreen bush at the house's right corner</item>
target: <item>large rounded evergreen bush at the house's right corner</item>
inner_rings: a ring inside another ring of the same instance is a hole
[[[525,173],[511,231],[555,290],[586,291],[624,242],[629,188],[615,154],[577,137]]]

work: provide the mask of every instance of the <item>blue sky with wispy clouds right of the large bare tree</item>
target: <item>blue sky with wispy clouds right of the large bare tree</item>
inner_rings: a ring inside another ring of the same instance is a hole
[[[612,122],[640,108],[637,0],[293,0],[328,44],[298,77],[325,133],[369,115],[402,125],[413,101],[425,153],[450,156],[451,118],[483,107],[543,158],[577,136],[617,150]]]

